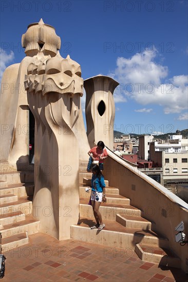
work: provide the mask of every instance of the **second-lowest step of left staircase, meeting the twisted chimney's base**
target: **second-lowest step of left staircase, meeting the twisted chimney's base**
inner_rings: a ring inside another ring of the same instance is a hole
[[[1,230],[2,237],[10,237],[12,235],[26,232],[28,235],[38,233],[40,227],[40,221],[36,220],[32,215],[26,216],[25,220],[17,221],[12,224],[4,225],[4,229]]]

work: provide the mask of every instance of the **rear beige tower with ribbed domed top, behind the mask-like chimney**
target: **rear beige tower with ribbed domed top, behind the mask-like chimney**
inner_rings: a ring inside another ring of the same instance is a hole
[[[60,49],[61,39],[52,26],[43,20],[28,26],[22,36],[22,47],[26,57],[19,64],[9,66],[2,77],[1,85],[1,161],[14,169],[29,165],[29,107],[24,88],[28,65],[35,55],[55,56]]]

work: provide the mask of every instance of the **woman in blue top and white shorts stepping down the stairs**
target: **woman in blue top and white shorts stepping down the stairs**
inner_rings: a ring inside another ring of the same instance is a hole
[[[102,215],[99,211],[99,207],[101,202],[103,201],[104,203],[106,200],[106,185],[104,183],[104,176],[98,165],[93,165],[91,167],[91,172],[91,205],[96,219],[96,225],[92,226],[91,229],[98,228],[98,230],[102,230],[105,227],[105,224],[102,221]]]

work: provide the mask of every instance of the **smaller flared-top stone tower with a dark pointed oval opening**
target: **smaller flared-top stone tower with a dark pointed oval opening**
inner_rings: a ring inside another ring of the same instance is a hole
[[[118,85],[116,80],[104,75],[84,80],[87,137],[90,147],[102,140],[109,149],[114,148],[115,103],[113,93]]]

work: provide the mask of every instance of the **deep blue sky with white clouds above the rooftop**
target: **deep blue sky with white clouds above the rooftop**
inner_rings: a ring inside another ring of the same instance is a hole
[[[24,58],[27,26],[43,18],[61,37],[61,55],[81,65],[84,79],[103,74],[120,83],[115,130],[187,129],[187,3],[2,0],[1,76]],[[83,96],[83,109],[84,103]]]

